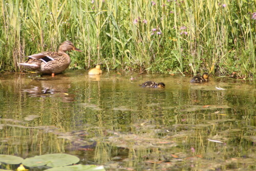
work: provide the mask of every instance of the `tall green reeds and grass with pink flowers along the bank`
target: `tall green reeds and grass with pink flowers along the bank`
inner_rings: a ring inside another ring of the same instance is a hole
[[[71,40],[71,67],[255,76],[255,1],[1,1],[0,71]]]

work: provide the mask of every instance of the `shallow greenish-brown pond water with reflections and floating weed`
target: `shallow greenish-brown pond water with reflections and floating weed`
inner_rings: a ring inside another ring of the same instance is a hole
[[[166,88],[138,86],[147,80]],[[189,80],[1,74],[0,154],[67,153],[107,170],[255,170],[255,82]]]

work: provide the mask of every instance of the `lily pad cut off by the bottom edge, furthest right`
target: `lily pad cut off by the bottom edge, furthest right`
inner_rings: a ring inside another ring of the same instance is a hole
[[[63,167],[54,167],[49,168],[45,171],[91,171],[91,170],[98,170],[98,171],[105,171],[103,166],[96,166],[96,165],[72,165],[72,166],[63,166]]]

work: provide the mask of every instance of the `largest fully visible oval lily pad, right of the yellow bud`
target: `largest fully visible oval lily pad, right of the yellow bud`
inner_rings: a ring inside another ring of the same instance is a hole
[[[49,167],[66,166],[79,162],[79,158],[68,154],[48,154],[27,158],[23,164],[28,167],[47,165]]]

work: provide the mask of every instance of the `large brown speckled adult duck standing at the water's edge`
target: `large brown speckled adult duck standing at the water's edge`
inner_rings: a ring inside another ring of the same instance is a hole
[[[64,41],[59,47],[58,52],[41,52],[25,57],[29,57],[26,62],[19,63],[20,66],[31,70],[37,70],[43,74],[58,74],[66,70],[70,65],[70,57],[66,53],[67,51],[75,50],[82,52],[77,49],[71,41]]]

